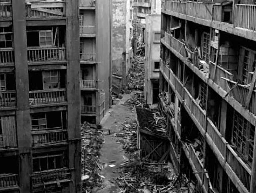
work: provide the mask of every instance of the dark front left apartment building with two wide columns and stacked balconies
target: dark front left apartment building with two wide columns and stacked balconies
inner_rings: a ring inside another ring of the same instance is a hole
[[[0,1],[0,192],[80,192],[78,1]]]

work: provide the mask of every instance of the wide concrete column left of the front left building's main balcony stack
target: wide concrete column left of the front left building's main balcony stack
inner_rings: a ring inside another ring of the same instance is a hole
[[[19,185],[20,193],[27,193],[30,192],[32,159],[25,0],[12,0],[12,9],[17,96],[16,124],[19,150]]]

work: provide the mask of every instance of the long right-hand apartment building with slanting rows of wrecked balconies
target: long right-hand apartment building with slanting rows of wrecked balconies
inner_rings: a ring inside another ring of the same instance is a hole
[[[255,1],[162,6],[160,100],[189,188],[256,192]]]

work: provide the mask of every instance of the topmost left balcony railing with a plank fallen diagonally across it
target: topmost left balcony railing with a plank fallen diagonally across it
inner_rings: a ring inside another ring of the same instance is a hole
[[[30,1],[26,0],[26,16],[40,17],[64,17],[64,1]]]

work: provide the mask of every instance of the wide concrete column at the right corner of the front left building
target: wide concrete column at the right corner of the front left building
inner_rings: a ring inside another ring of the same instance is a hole
[[[68,100],[68,158],[69,168],[74,182],[69,184],[69,192],[81,192],[80,165],[80,84],[79,84],[79,4],[66,0],[66,42],[67,42],[67,100]]]

